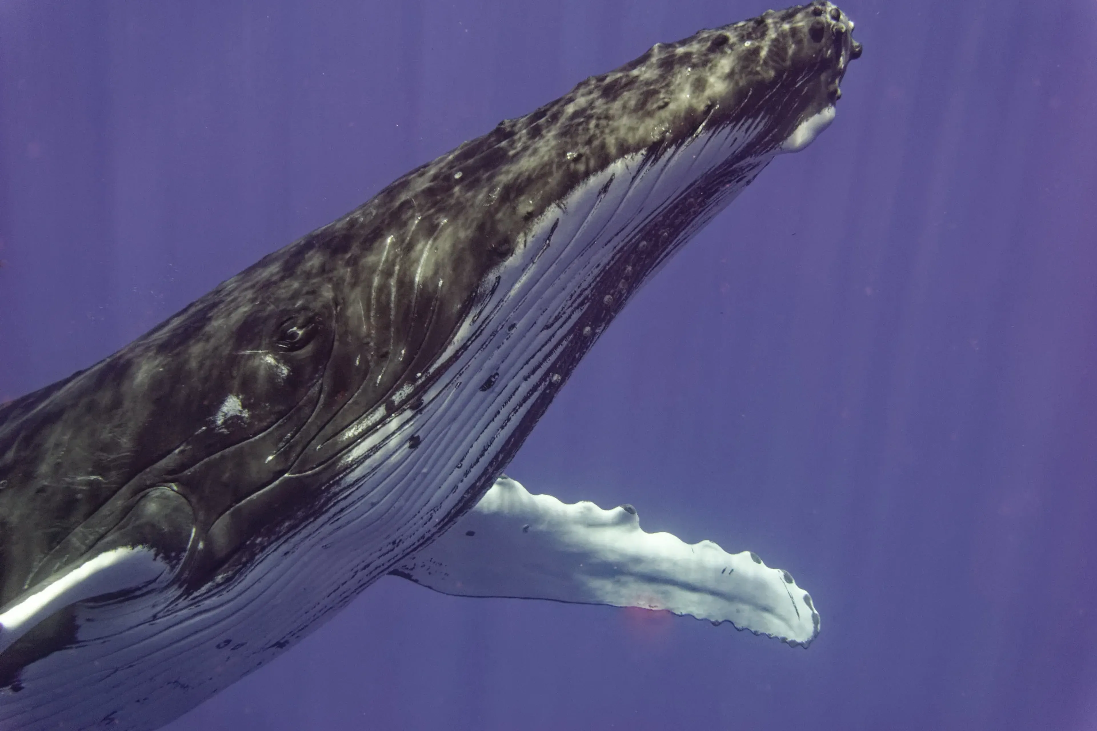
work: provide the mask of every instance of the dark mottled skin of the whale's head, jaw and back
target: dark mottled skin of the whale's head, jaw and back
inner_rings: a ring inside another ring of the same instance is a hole
[[[656,44],[404,175],[87,370],[0,407],[0,609],[92,555],[156,489],[181,495],[193,513],[197,540],[178,585],[190,592],[231,576],[353,488],[338,479],[347,470],[339,458],[361,439],[363,420],[422,407],[460,355],[443,358],[456,329],[531,221],[622,158],[658,158],[700,130],[760,122],[746,149],[671,202],[600,273],[573,328],[587,336],[558,353],[551,384],[476,466],[463,503],[436,528],[444,529],[722,191],[749,182],[758,159],[835,102],[860,53],[850,28],[837,9],[817,4]],[[217,423],[230,397],[240,411]],[[430,446],[418,436],[406,444],[405,454]],[[37,653],[0,654],[9,686],[60,637],[37,638]]]

